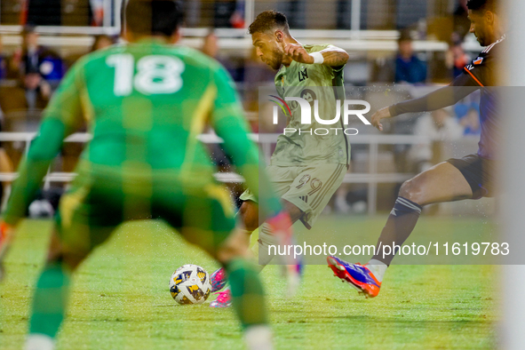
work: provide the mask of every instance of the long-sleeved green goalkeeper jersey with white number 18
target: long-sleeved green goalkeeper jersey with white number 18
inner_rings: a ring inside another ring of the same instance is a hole
[[[154,174],[170,170],[180,186],[205,186],[214,181],[215,168],[198,136],[211,126],[246,185],[257,191],[267,182],[225,69],[201,52],[147,40],[94,52],[70,69],[20,164],[6,222],[25,215],[63,139],[84,123],[92,139],[79,176],[100,167],[124,171],[135,163]],[[281,207],[270,195],[261,209],[272,214]]]

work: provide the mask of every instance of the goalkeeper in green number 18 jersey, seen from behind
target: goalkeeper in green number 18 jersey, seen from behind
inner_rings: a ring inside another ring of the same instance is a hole
[[[164,219],[224,266],[249,348],[271,348],[262,286],[244,259],[246,235],[235,229],[227,188],[214,180],[210,156],[197,139],[211,126],[258,195],[267,180],[259,176],[258,149],[247,137],[234,83],[216,61],[171,45],[179,39],[181,4],[131,0],[124,13],[129,44],[92,53],[68,72],[3,214],[4,250],[9,227],[25,215],[63,139],[87,123],[92,140],[60,201],[49,260],[36,285],[27,348],[53,348],[69,272],[123,221],[149,218]],[[259,204],[274,230],[289,235],[290,218],[278,198],[265,198]]]

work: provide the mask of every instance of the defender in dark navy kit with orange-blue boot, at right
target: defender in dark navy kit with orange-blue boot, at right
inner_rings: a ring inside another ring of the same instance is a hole
[[[371,123],[379,131],[383,131],[381,119],[448,107],[473,91],[481,90],[481,138],[478,152],[439,163],[402,184],[394,209],[379,236],[376,255],[368,264],[350,264],[338,257],[328,257],[328,264],[334,274],[366,297],[378,295],[386,267],[397,253],[393,251],[392,254],[383,256],[380,252],[381,245],[401,246],[416,226],[423,206],[492,195],[494,162],[500,139],[500,115],[494,86],[498,85],[497,62],[505,44],[505,27],[497,10],[497,0],[469,0],[467,7],[471,21],[470,32],[486,48],[449,86],[420,99],[411,99],[380,109],[372,115]]]

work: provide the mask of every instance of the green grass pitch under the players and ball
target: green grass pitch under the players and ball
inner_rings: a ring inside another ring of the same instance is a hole
[[[385,218],[346,221],[375,240]],[[422,218],[418,231],[442,222]],[[0,349],[23,344],[50,228],[49,221],[24,221],[7,257]],[[243,349],[232,310],[213,309],[210,300],[179,306],[171,298],[171,273],[187,263],[210,273],[217,267],[162,223],[124,225],[78,270],[59,348]],[[285,296],[278,266],[261,276],[278,349],[491,349],[497,347],[498,272],[497,266],[391,266],[374,299],[358,296],[327,266],[306,266],[292,299]]]

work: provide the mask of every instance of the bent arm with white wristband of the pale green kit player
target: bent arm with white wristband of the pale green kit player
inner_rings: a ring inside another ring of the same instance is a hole
[[[299,63],[319,63],[329,67],[344,66],[350,58],[345,50],[332,45],[320,52],[310,54],[306,52],[301,44],[287,44],[284,47],[284,53],[290,56],[291,60],[298,61]]]

